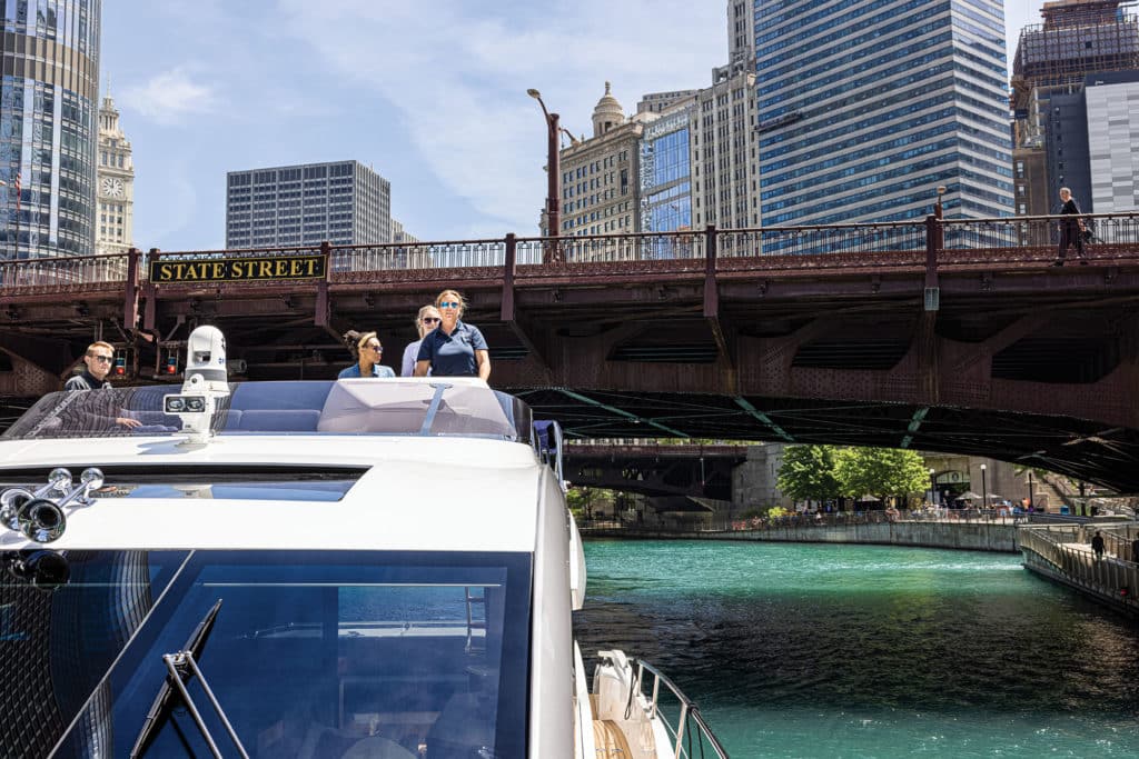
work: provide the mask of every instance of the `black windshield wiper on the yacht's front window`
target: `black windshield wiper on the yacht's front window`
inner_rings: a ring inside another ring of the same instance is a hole
[[[210,698],[210,702],[213,704],[214,710],[221,718],[222,724],[226,726],[226,731],[229,733],[230,739],[233,744],[237,745],[237,750],[241,753],[245,759],[249,759],[249,754],[246,753],[245,746],[241,745],[241,741],[238,740],[237,733],[233,731],[233,726],[229,724],[229,719],[226,717],[226,712],[222,711],[221,704],[218,703],[218,699],[214,698],[213,691],[210,690],[208,683],[206,683],[205,676],[202,670],[198,669],[197,658],[202,655],[202,650],[205,649],[206,640],[210,637],[210,632],[213,629],[214,620],[218,618],[218,612],[221,611],[221,599],[218,599],[218,603],[206,612],[206,616],[202,618],[198,626],[194,628],[190,637],[186,641],[186,645],[178,653],[166,653],[163,654],[162,660],[166,665],[166,669],[170,670],[170,675],[162,683],[162,688],[158,690],[158,695],[155,696],[154,703],[150,704],[150,711],[147,712],[146,721],[142,723],[142,729],[139,731],[139,735],[134,739],[134,748],[131,749],[131,759],[141,757],[146,753],[150,744],[154,743],[155,737],[158,735],[158,731],[163,725],[166,724],[166,719],[170,718],[171,712],[174,709],[174,690],[178,690],[178,694],[181,695],[182,702],[189,710],[190,716],[194,718],[194,724],[197,725],[198,731],[202,733],[202,737],[205,739],[206,744],[210,746],[210,751],[214,757],[221,759],[221,751],[218,750],[218,744],[214,742],[213,736],[210,735],[210,731],[206,729],[206,724],[202,719],[202,713],[198,711],[197,707],[194,704],[192,699],[190,699],[189,691],[186,690],[186,684],[194,676],[197,676],[198,682],[202,684],[202,690],[206,692]]]

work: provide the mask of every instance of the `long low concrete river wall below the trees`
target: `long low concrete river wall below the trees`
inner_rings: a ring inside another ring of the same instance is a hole
[[[866,543],[926,548],[1016,553],[1016,526],[1001,522],[901,521],[870,525],[788,526],[755,530],[654,530],[585,528],[584,537],[664,541],[769,541],[775,543]]]

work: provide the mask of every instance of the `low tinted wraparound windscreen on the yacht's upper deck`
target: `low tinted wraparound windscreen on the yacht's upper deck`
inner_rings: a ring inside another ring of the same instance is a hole
[[[13,424],[3,439],[90,438],[182,432],[163,411],[172,386],[51,393]],[[363,379],[240,382],[218,399],[219,435],[431,435],[528,443],[525,403],[485,386]]]

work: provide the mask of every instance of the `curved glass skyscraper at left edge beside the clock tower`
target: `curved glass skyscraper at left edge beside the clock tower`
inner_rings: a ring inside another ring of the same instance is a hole
[[[0,0],[5,258],[95,253],[100,10],[100,0]]]

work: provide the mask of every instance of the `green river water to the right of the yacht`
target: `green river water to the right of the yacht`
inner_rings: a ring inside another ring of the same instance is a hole
[[[1139,626],[1018,554],[595,541],[585,558],[587,662],[657,665],[732,759],[1139,757]]]

